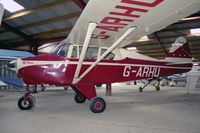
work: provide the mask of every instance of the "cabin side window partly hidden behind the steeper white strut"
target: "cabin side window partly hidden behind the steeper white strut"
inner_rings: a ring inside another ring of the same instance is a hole
[[[79,47],[79,53],[81,53],[82,46]],[[87,49],[85,58],[86,59],[96,59],[98,54],[98,47],[89,47]]]

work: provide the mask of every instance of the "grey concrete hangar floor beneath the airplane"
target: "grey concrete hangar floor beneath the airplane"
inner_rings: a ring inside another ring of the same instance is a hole
[[[200,89],[148,86],[113,86],[111,97],[105,88],[98,95],[107,102],[103,113],[95,114],[74,102],[72,90],[47,90],[35,95],[36,107],[21,111],[19,92],[0,92],[0,133],[199,133]]]

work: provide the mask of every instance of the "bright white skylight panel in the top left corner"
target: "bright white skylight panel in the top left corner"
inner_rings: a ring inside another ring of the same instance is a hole
[[[0,0],[0,3],[3,4],[3,7],[11,13],[24,9],[23,6],[13,0]]]

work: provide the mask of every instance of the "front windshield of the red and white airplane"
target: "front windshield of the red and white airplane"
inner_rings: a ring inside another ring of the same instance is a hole
[[[51,53],[61,57],[67,57],[69,45],[69,43],[62,41]]]

